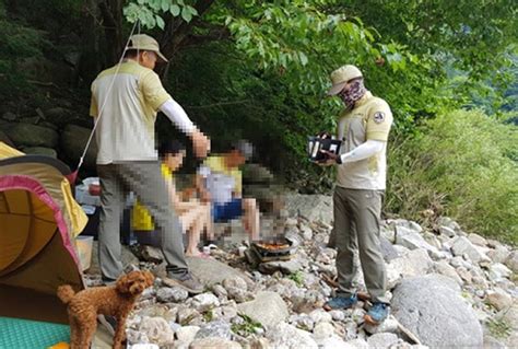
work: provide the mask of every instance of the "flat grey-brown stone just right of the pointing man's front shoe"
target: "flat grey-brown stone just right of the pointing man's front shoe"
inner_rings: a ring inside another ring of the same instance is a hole
[[[222,283],[223,280],[231,277],[239,277],[247,284],[254,283],[244,272],[213,258],[187,257],[187,263],[190,271],[208,286]]]

